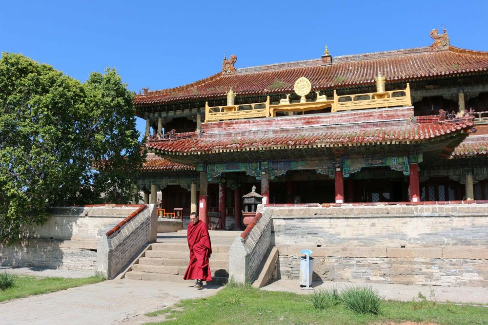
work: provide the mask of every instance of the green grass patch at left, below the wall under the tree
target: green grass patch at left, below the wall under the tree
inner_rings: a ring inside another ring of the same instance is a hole
[[[19,276],[13,287],[0,291],[0,302],[25,298],[28,296],[80,287],[105,280],[100,275],[87,278],[37,278],[32,276]]]

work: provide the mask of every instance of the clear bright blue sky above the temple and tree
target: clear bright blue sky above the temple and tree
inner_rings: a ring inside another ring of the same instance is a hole
[[[84,81],[115,67],[130,90],[180,86],[237,68],[427,46],[488,51],[486,1],[8,1],[0,50]],[[138,118],[138,130],[144,122]]]

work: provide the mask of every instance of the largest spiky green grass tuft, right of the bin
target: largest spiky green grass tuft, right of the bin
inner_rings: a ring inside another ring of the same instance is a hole
[[[359,314],[379,314],[384,303],[371,287],[347,287],[341,294],[344,306]]]

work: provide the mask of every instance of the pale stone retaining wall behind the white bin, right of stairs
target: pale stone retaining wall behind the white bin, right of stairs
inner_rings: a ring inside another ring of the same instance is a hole
[[[282,278],[488,286],[488,205],[270,207]]]

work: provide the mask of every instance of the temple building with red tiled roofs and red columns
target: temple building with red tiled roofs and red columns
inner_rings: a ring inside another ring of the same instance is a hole
[[[222,70],[136,95],[144,202],[241,229],[264,204],[488,199],[488,52],[430,46]]]

